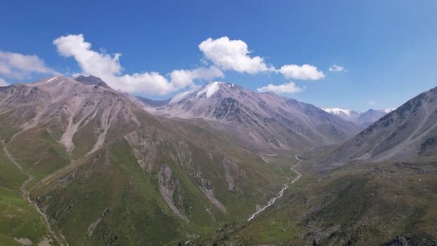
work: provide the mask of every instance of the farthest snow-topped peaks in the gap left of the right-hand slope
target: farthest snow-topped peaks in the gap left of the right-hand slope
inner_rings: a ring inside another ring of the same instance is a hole
[[[341,119],[346,119],[349,122],[353,122],[360,127],[368,127],[373,122],[376,122],[378,119],[393,111],[393,109],[388,108],[384,110],[374,110],[370,109],[366,112],[359,112],[356,110],[346,110],[343,108],[322,108],[326,112],[330,112],[333,115],[337,115],[341,117]]]

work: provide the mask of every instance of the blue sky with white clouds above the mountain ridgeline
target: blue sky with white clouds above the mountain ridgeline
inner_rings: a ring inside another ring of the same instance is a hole
[[[3,1],[0,84],[97,73],[159,99],[219,80],[354,110],[437,85],[433,0],[90,2]]]

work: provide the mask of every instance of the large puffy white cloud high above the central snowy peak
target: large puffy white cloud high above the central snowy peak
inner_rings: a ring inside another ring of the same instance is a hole
[[[199,49],[205,58],[223,70],[247,72],[252,75],[269,70],[263,58],[249,56],[247,44],[242,40],[230,40],[228,37],[209,38],[199,44]]]

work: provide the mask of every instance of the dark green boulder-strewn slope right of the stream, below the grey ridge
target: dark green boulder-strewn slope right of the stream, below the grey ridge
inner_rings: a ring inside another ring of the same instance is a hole
[[[356,165],[307,173],[253,221],[232,224],[200,244],[380,245],[398,236],[432,245],[436,206],[435,162]]]

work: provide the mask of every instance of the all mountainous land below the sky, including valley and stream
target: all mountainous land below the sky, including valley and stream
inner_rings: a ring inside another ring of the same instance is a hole
[[[436,100],[382,116],[226,82],[166,101],[93,76],[0,87],[0,245],[432,245]]]

